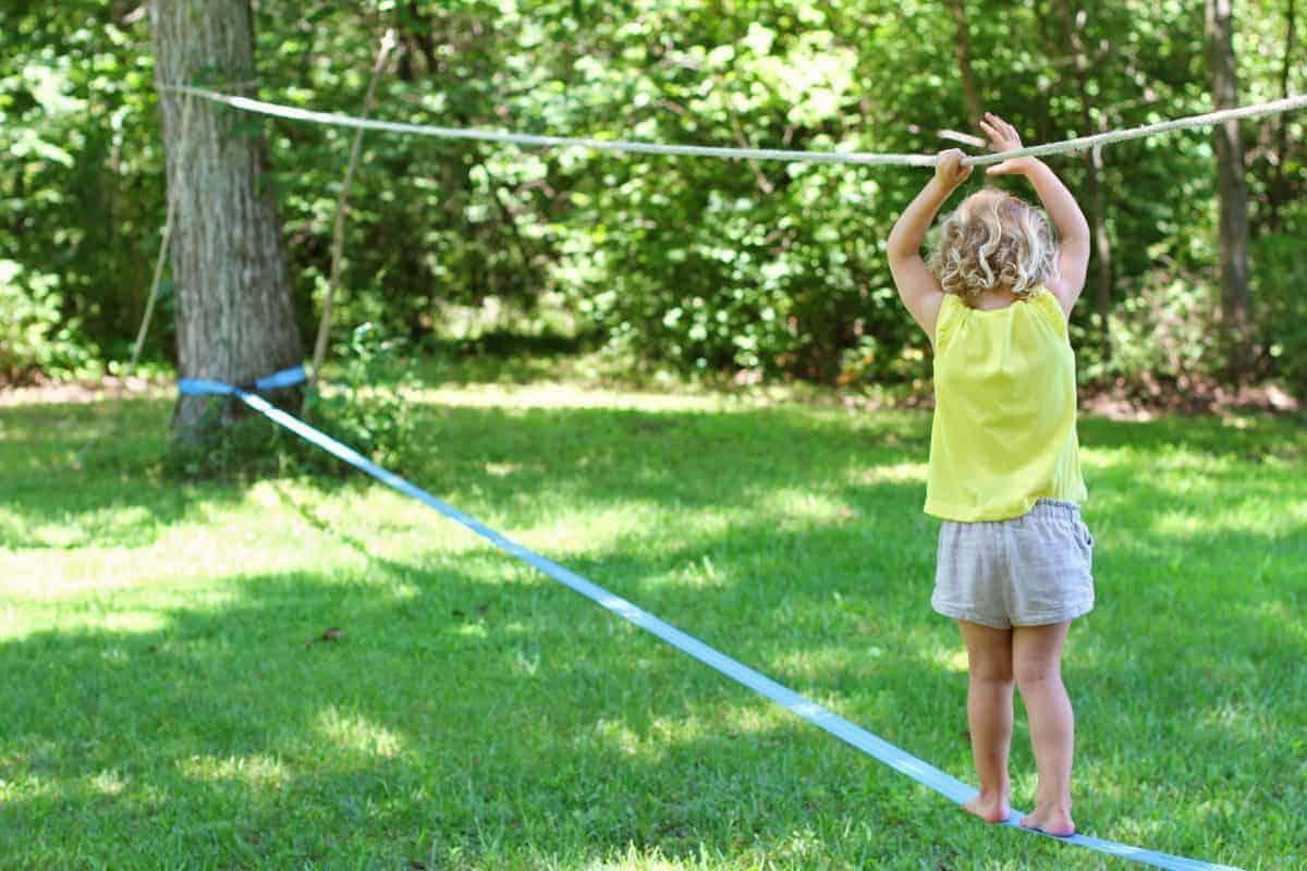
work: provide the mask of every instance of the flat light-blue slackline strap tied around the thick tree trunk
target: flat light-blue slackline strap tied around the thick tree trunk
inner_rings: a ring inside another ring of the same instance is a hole
[[[272,384],[273,381],[276,381],[276,385],[284,385],[282,379],[293,379],[293,375],[290,375],[293,372],[295,372],[295,370],[285,370],[267,379],[260,379],[259,381],[256,381],[256,387],[264,385],[261,389],[271,389],[267,385]],[[299,380],[302,380],[303,379],[302,368],[298,370],[298,375]],[[289,383],[294,384],[298,381],[290,380]],[[840,740],[844,740],[852,744],[853,747],[861,750],[863,752],[876,757],[877,760],[889,765],[901,774],[907,774],[919,784],[929,786],[931,789],[933,789],[936,793],[940,793],[945,798],[961,804],[962,802],[976,795],[976,789],[974,786],[968,786],[967,784],[963,784],[951,774],[941,772],[938,768],[931,765],[929,763],[925,763],[918,759],[916,756],[912,756],[911,753],[899,750],[898,747],[889,743],[884,738],[878,738],[872,733],[867,731],[865,729],[855,726],[853,723],[848,722],[839,714],[827,710],[826,708],[805,699],[804,696],[800,696],[793,689],[789,689],[788,687],[776,683],[771,678],[758,671],[754,671],[749,666],[737,662],[736,659],[732,659],[727,654],[714,648],[710,648],[708,645],[703,644],[694,636],[686,635],[685,632],[682,632],[681,629],[676,628],[669,623],[664,623],[663,620],[657,619],[648,611],[637,607],[635,605],[627,602],[620,595],[609,593],[597,584],[593,584],[582,577],[580,575],[576,575],[575,572],[563,568],[558,563],[545,559],[544,556],[536,554],[535,551],[527,550],[518,542],[506,538],[505,535],[497,533],[489,526],[481,524],[478,520],[469,517],[468,515],[464,515],[457,508],[454,508],[452,505],[440,501],[439,499],[426,492],[425,490],[421,490],[414,484],[410,484],[408,481],[400,478],[395,473],[382,469],[375,462],[367,460],[357,451],[341,444],[340,441],[336,441],[335,439],[323,432],[319,432],[318,430],[308,426],[303,420],[299,420],[298,418],[286,414],[281,409],[269,404],[263,397],[254,396],[248,390],[244,390],[239,387],[233,387],[230,384],[222,384],[217,381],[208,381],[203,379],[184,379],[182,381],[182,385],[183,385],[182,392],[192,396],[204,393],[235,396],[255,411],[259,411],[260,414],[273,420],[274,423],[286,427],[288,430],[301,436],[306,441],[310,441],[322,448],[323,451],[327,451],[328,453],[344,460],[356,469],[366,471],[367,474],[376,478],[388,487],[393,487],[401,494],[413,496],[418,501],[425,503],[426,505],[434,508],[435,511],[444,515],[450,520],[454,520],[467,526],[477,535],[481,535],[482,538],[485,538],[486,541],[489,541],[491,545],[505,551],[506,554],[516,556],[523,563],[527,563],[528,565],[540,569],[549,577],[554,578],[555,581],[566,586],[570,586],[572,590],[604,606],[605,609],[608,609],[613,614],[617,614],[622,619],[630,620],[642,629],[652,632],[654,635],[663,639],[664,641],[677,648],[678,650],[690,654],[699,662],[711,666],[712,669],[716,669],[728,678],[738,683],[742,683],[744,686],[749,687],[755,692],[762,693],[763,696],[771,699],[772,701],[782,705],[787,710],[802,717],[808,722],[819,726],[821,729],[825,729],[831,735],[835,735]],[[1002,825],[1008,825],[1014,829],[1027,832],[1030,834],[1044,834],[1046,837],[1052,837],[1057,841],[1065,841],[1067,844],[1076,844],[1084,847],[1089,847],[1091,850],[1098,850],[1099,853],[1120,857],[1123,859],[1131,859],[1133,862],[1140,862],[1142,864],[1151,864],[1158,868],[1168,868],[1171,871],[1242,871],[1240,868],[1235,868],[1226,864],[1213,864],[1210,862],[1202,862],[1200,859],[1185,859],[1183,857],[1171,855],[1168,853],[1144,850],[1141,847],[1128,846],[1125,844],[1116,844],[1115,841],[1104,841],[1102,838],[1090,837],[1087,834],[1073,834],[1070,837],[1060,838],[1052,834],[1046,834],[1044,832],[1039,832],[1038,829],[1027,829],[1022,827],[1019,823],[1021,816],[1022,814],[1019,811],[1013,811],[1012,815],[1009,815],[1008,819],[1002,823]]]

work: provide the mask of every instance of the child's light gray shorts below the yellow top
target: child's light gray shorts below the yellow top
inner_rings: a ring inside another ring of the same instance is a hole
[[[996,629],[1070,620],[1094,607],[1093,551],[1070,501],[1040,499],[1012,520],[946,520],[931,606]]]

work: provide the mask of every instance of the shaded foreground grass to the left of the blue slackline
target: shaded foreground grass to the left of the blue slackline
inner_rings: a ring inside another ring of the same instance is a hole
[[[170,610],[163,629],[0,645],[0,780],[33,789],[0,808],[0,844],[58,864],[112,832],[120,867],[167,850],[269,867],[510,844],[689,855],[784,840],[817,802],[872,800],[869,781],[902,789],[566,590],[376,571],[233,581],[235,602]],[[314,642],[327,624],[342,637]],[[904,691],[936,682],[885,669]]]

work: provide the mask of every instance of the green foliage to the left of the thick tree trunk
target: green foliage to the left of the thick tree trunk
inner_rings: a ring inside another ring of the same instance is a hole
[[[163,225],[148,20],[116,1],[0,7],[0,260],[58,276],[48,323],[88,356],[127,356]],[[175,356],[158,321],[149,356]]]

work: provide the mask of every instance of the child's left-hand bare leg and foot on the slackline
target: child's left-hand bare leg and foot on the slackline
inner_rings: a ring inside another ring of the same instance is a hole
[[[971,756],[980,776],[980,795],[963,810],[988,823],[1001,823],[1012,812],[1008,750],[1012,746],[1012,629],[995,629],[958,620],[967,644],[970,683],[967,722]]]

